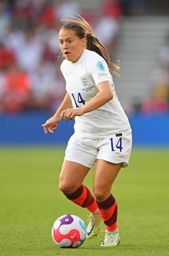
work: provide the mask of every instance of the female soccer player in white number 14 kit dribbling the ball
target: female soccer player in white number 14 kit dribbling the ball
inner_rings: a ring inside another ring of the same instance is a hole
[[[63,19],[59,31],[61,71],[66,80],[66,96],[54,116],[43,124],[45,134],[54,132],[64,118],[75,119],[75,133],[68,141],[59,177],[59,189],[91,212],[87,239],[96,236],[101,220],[105,240],[101,246],[120,243],[117,228],[117,202],[112,184],[121,167],[128,166],[131,154],[131,128],[114,89],[110,73],[119,68],[110,61],[107,49],[82,17]],[[105,54],[103,54],[105,52]],[[83,180],[96,162],[93,193]]]

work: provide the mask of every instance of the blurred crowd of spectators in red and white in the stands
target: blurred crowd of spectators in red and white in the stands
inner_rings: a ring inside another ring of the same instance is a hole
[[[78,13],[87,19],[113,55],[121,17],[142,14],[145,8],[145,1],[140,4],[138,0],[99,1],[94,10],[80,2],[0,1],[0,113],[55,111],[61,104],[66,92],[60,70],[62,59],[57,57],[58,31],[64,15]],[[143,112],[150,111],[154,97],[165,95],[168,99],[169,43],[161,50],[160,61],[166,69],[166,81],[159,81],[153,97],[143,102]],[[158,104],[168,109],[167,100]]]

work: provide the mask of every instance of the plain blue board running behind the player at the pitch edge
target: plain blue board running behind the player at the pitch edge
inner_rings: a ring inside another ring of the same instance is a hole
[[[62,145],[73,134],[74,121],[62,120],[54,134],[44,134],[41,124],[48,113],[0,115],[0,145]],[[169,147],[169,114],[141,115],[129,118],[133,131],[133,146]]]

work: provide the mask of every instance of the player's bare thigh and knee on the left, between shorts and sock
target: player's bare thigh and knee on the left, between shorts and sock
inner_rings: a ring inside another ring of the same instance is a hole
[[[59,176],[59,189],[64,193],[73,193],[81,185],[90,168],[73,161],[64,160]]]

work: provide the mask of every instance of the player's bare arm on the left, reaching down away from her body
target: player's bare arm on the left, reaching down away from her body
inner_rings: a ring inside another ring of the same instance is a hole
[[[45,134],[47,134],[48,131],[54,133],[55,129],[57,129],[57,124],[61,121],[62,111],[68,108],[73,108],[73,106],[71,104],[70,95],[66,93],[61,106],[57,109],[55,114],[50,119],[48,119],[45,124],[41,125],[43,126]]]

